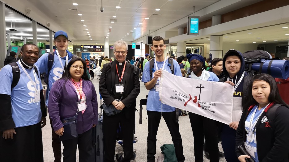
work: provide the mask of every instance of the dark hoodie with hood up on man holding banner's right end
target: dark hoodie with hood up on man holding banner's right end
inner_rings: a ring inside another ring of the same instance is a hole
[[[240,67],[240,71],[236,74],[235,77],[230,78],[229,73],[225,67],[225,63],[226,63],[226,59],[228,56],[232,56],[232,55],[238,55],[241,61],[241,67]],[[233,118],[232,121],[240,121],[241,115],[242,115],[242,110],[243,110],[243,105],[242,105],[242,95],[243,95],[243,83],[244,83],[244,78],[248,75],[247,72],[245,72],[245,61],[243,58],[243,55],[241,52],[231,49],[228,52],[226,52],[224,58],[223,58],[223,73],[225,75],[225,77],[223,79],[221,79],[219,82],[225,82],[228,81],[228,79],[230,81],[232,81],[234,84],[237,84],[238,81],[240,80],[240,78],[242,77],[242,74],[244,73],[244,77],[241,80],[240,84],[238,85],[238,87],[236,88],[236,90],[234,91],[234,96],[233,96]]]

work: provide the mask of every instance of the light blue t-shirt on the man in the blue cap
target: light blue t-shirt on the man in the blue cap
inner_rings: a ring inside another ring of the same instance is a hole
[[[68,62],[71,60],[72,58],[72,54],[68,51],[66,51],[68,54]],[[35,65],[39,68],[39,72],[40,73],[48,73],[48,54],[49,53],[45,53],[43,54],[38,61],[35,63]],[[66,56],[65,57],[61,57],[61,61],[62,61],[62,65],[65,66],[65,62],[66,62]],[[67,64],[68,64],[67,62]],[[57,81],[58,79],[60,79],[62,77],[62,73],[63,73],[63,69],[61,67],[60,64],[60,60],[57,56],[56,51],[54,51],[54,61],[53,61],[53,65],[51,67],[50,73],[49,73],[49,77],[48,77],[48,87],[47,87],[47,91],[46,91],[46,100],[45,100],[45,105],[48,106],[48,96],[50,93],[50,89],[53,85],[53,83],[55,81]]]

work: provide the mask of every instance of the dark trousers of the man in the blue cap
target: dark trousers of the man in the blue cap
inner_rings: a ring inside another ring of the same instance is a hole
[[[54,154],[54,162],[61,162],[61,141],[59,139],[59,135],[57,135],[52,127],[52,121],[50,120],[50,126],[52,130],[52,150]]]

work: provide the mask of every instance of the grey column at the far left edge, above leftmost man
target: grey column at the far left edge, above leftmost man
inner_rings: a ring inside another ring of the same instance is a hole
[[[5,24],[5,3],[0,2],[0,67],[3,68],[7,54],[6,47],[6,24]]]

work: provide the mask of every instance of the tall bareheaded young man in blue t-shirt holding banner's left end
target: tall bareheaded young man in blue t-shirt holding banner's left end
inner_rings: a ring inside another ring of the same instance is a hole
[[[156,135],[158,132],[159,122],[161,117],[168,126],[168,129],[172,135],[172,141],[176,150],[176,158],[178,162],[185,161],[183,155],[183,144],[181,134],[179,132],[179,123],[176,123],[175,108],[162,104],[159,101],[159,77],[161,77],[161,70],[172,73],[168,59],[164,56],[164,39],[160,36],[155,36],[152,39],[151,50],[155,52],[155,58],[150,60],[154,62],[152,76],[150,74],[150,61],[148,61],[143,69],[142,82],[145,83],[146,89],[150,90],[147,98],[147,115],[148,115],[148,136],[147,136],[147,162],[155,162],[156,154]],[[176,60],[173,61],[174,75],[182,76],[181,69]]]

